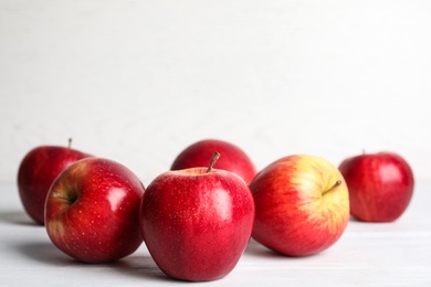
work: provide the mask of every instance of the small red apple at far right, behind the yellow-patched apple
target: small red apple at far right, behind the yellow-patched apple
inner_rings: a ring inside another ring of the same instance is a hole
[[[350,213],[364,222],[392,222],[401,216],[413,194],[414,178],[408,162],[393,152],[345,159],[339,170],[346,179]]]

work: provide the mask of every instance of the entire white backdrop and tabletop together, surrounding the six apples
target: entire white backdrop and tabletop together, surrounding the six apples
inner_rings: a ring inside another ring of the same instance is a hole
[[[236,144],[259,169],[397,151],[419,183],[400,220],[350,221],[303,258],[252,241],[206,286],[430,286],[430,97],[429,0],[0,0],[0,285],[174,284],[145,245],[81,265],[30,224],[19,163],[73,137],[145,185],[203,138]]]

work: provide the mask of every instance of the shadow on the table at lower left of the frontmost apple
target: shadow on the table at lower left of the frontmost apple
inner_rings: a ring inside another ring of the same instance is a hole
[[[171,280],[166,276],[156,265],[151,256],[147,255],[129,255],[116,263],[112,267],[124,275],[134,276],[138,278],[147,278],[159,281]]]

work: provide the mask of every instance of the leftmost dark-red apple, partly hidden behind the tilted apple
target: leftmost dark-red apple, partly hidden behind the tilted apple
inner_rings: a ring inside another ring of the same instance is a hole
[[[18,170],[18,190],[25,212],[36,223],[44,224],[46,193],[54,179],[73,162],[90,155],[69,147],[40,146],[30,150]]]

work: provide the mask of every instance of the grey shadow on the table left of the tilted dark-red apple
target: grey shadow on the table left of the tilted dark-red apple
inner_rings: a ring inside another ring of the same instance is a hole
[[[13,246],[19,254],[46,265],[73,264],[73,259],[59,251],[51,242],[20,243]]]

